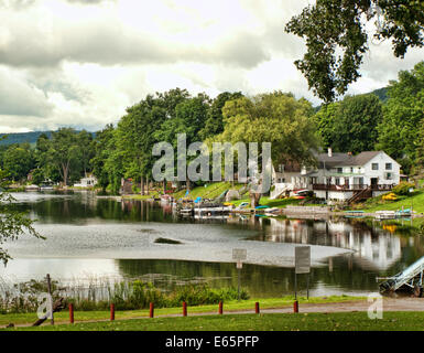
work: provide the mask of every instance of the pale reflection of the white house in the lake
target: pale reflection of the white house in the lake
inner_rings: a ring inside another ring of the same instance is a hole
[[[265,226],[267,227],[267,226]],[[355,250],[361,268],[385,270],[401,258],[401,239],[365,223],[334,221],[270,220],[267,240],[336,246]]]

